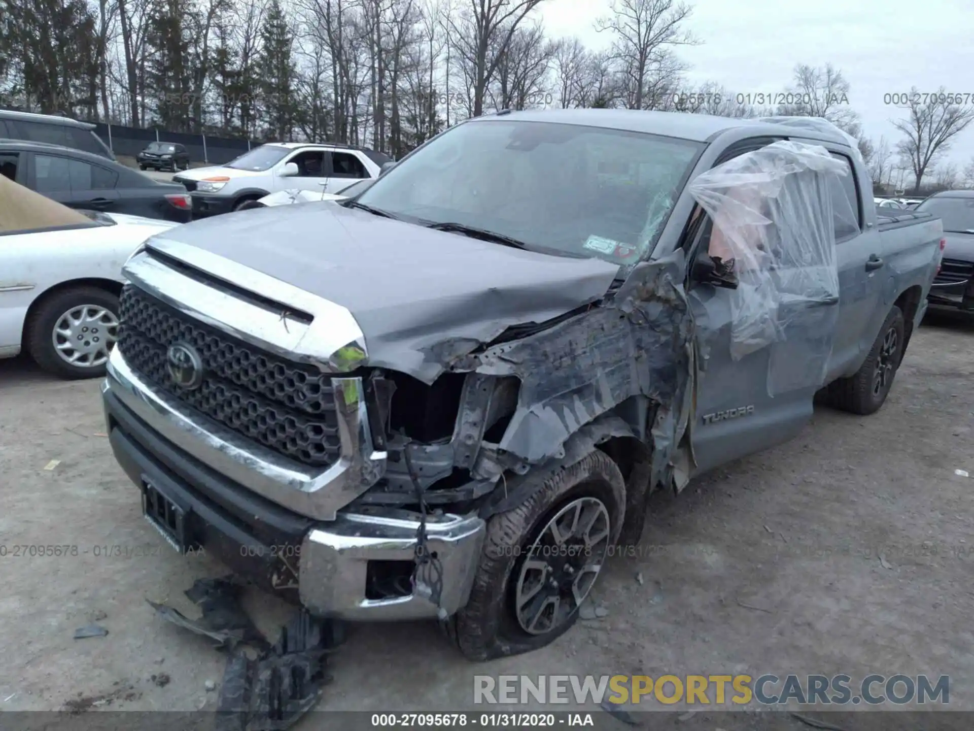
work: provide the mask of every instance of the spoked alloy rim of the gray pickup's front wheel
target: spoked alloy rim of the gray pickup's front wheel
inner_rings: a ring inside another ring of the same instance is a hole
[[[573,500],[544,525],[517,579],[517,622],[544,635],[579,610],[609,550],[609,511],[601,500]]]

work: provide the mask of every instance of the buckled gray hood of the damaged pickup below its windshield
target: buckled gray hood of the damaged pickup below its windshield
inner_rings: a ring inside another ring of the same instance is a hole
[[[507,327],[603,298],[618,266],[479,241],[319,203],[214,216],[161,234],[348,309],[371,365],[431,383]]]

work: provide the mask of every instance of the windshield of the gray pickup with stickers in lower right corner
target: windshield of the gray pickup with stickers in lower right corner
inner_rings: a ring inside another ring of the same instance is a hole
[[[631,264],[654,242],[700,146],[597,127],[470,123],[358,200],[425,223],[485,229],[531,250]]]

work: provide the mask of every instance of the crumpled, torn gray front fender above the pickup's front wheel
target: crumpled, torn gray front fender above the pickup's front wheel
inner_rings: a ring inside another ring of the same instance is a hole
[[[661,475],[692,404],[693,316],[684,276],[682,250],[644,262],[602,306],[457,364],[521,383],[504,438],[493,453],[481,449],[481,477],[485,456],[502,471],[561,458],[570,437],[633,396],[660,404],[653,433],[654,473]]]

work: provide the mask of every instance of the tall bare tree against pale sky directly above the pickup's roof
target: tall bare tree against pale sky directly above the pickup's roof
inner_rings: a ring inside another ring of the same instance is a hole
[[[613,35],[613,58],[622,65],[627,106],[658,108],[684,70],[672,49],[697,43],[682,28],[691,7],[674,0],[613,0],[611,8],[611,16],[596,20],[595,30]]]

